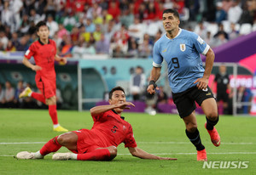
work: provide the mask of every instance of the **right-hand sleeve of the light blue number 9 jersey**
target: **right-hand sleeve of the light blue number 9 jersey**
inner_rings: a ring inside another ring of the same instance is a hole
[[[195,45],[196,50],[206,55],[208,50],[210,49],[210,46],[205,42],[200,36],[198,36],[195,33],[192,33],[192,42]]]

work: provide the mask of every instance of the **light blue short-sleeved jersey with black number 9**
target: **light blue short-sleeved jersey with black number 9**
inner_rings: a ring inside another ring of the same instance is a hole
[[[164,35],[154,43],[153,66],[160,67],[165,59],[172,92],[181,93],[195,87],[195,80],[203,76],[200,54],[207,54],[209,48],[194,32],[179,29],[173,39]]]

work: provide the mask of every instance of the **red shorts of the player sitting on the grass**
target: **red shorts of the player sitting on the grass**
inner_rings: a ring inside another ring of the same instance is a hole
[[[88,153],[103,147],[96,139],[96,134],[89,129],[80,129],[78,131],[73,131],[73,133],[76,133],[79,137],[77,142],[78,154]]]

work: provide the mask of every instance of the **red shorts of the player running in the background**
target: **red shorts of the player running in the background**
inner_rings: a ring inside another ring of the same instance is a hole
[[[56,95],[56,79],[47,79],[43,76],[36,75],[35,81],[45,99],[49,99]]]

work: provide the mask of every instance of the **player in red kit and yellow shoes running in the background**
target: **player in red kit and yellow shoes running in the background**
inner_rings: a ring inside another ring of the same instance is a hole
[[[49,106],[49,116],[54,124],[55,132],[68,132],[67,129],[61,127],[58,122],[56,110],[56,74],[55,74],[55,61],[60,62],[62,65],[67,63],[66,58],[61,58],[56,54],[56,44],[53,40],[49,39],[49,27],[44,21],[37,24],[38,41],[33,42],[26,51],[22,63],[26,67],[36,71],[35,81],[41,93],[34,93],[30,88],[26,88],[20,93],[20,98],[32,97]],[[28,59],[34,57],[36,65],[32,65]]]

